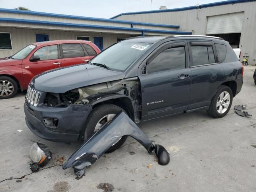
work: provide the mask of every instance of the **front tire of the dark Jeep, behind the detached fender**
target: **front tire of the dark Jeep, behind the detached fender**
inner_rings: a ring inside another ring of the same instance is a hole
[[[92,112],[90,113],[90,115],[88,117],[88,121],[85,126],[84,141],[86,141],[92,134],[94,134],[94,131],[96,131],[95,130],[96,125],[98,124],[98,122],[100,122],[100,120],[103,121],[102,124],[104,124],[107,121],[107,117],[106,117],[106,119],[104,118],[105,116],[112,114],[111,117],[113,118],[114,115],[116,115],[121,110],[122,110],[122,108],[120,108],[114,104],[103,104],[103,105],[100,105],[100,106],[97,106],[96,108],[94,108],[92,110]],[[102,120],[102,118],[104,118],[104,119]],[[109,118],[109,119],[111,119],[111,118]],[[97,128],[99,128],[99,127],[97,127]],[[126,138],[127,138],[127,136],[123,136],[116,144],[111,146],[106,151],[106,153],[110,153],[110,152],[113,152],[114,150],[118,149],[122,144],[124,144]]]

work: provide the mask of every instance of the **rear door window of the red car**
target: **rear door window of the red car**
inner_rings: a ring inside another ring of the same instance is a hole
[[[78,43],[62,44],[63,58],[83,57],[84,50]]]

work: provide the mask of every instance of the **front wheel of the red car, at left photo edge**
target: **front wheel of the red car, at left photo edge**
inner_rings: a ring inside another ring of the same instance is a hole
[[[0,99],[9,99],[18,92],[17,82],[7,76],[0,76]]]

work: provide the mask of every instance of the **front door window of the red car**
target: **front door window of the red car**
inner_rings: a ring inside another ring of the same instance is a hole
[[[38,49],[34,52],[34,56],[38,55],[40,61],[58,59],[58,45],[49,45]]]

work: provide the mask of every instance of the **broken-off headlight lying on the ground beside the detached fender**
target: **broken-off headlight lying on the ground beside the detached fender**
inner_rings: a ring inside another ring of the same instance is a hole
[[[52,153],[46,145],[37,142],[31,146],[29,156],[34,162],[30,164],[30,169],[34,172],[39,169],[39,166],[43,167],[49,162],[52,158]]]

